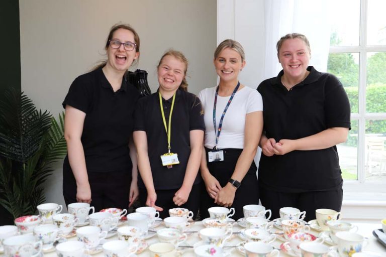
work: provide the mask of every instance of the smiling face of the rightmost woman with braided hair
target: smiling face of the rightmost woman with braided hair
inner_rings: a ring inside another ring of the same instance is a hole
[[[294,38],[283,41],[278,58],[284,75],[294,80],[304,78],[310,56],[310,49],[302,39]]]

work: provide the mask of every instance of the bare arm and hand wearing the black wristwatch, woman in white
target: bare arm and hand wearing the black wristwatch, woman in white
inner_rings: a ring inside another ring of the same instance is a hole
[[[237,160],[235,171],[232,174],[232,179],[242,181],[247,174],[253,158],[256,155],[257,147],[260,141],[260,136],[263,130],[263,113],[262,111],[254,111],[246,114],[245,117],[245,134],[244,134],[244,149]],[[231,206],[235,198],[236,188],[227,183],[215,198],[215,203],[225,207]]]

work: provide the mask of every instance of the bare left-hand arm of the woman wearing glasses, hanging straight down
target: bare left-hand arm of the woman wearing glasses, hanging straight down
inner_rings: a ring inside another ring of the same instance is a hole
[[[64,138],[67,142],[68,161],[76,180],[76,201],[91,202],[83,145],[80,141],[86,113],[66,105],[64,116]]]

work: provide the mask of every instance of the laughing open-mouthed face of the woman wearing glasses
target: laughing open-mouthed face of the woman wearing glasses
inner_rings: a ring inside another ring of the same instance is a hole
[[[121,43],[135,43],[134,33],[122,28],[114,32],[112,40],[118,40]],[[107,66],[117,71],[126,71],[133,61],[138,58],[139,52],[137,52],[136,49],[126,51],[123,45],[121,45],[118,49],[114,49],[109,45],[107,48],[107,55]]]

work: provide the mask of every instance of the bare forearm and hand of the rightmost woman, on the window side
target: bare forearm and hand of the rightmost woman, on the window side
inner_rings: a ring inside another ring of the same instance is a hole
[[[301,139],[282,139],[274,145],[273,151],[276,155],[284,155],[295,150],[310,151],[326,149],[345,142],[347,136],[347,127],[331,127],[315,135]]]

